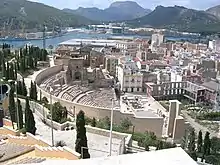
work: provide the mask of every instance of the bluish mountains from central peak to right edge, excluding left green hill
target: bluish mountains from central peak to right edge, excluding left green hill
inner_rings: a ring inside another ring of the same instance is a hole
[[[206,11],[182,6],[157,6],[151,11],[144,9],[136,2],[118,1],[104,10],[80,7],[76,10],[63,9],[63,11],[100,22],[123,21],[132,27],[145,26],[188,32],[220,31],[220,5]]]

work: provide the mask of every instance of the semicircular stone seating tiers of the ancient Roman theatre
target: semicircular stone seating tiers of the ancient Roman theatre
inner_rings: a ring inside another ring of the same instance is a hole
[[[50,87],[53,86],[52,94],[61,99],[87,106],[95,106],[101,108],[111,108],[111,98],[114,98],[114,91],[111,88],[100,88],[97,90],[89,86],[83,85],[62,85],[55,88],[56,75],[42,81],[40,87],[47,92],[50,92]]]

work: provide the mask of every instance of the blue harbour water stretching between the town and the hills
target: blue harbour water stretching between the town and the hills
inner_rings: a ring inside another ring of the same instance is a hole
[[[53,48],[57,47],[61,42],[71,40],[71,39],[107,39],[111,37],[123,37],[119,35],[112,35],[112,34],[97,34],[97,33],[82,33],[82,32],[69,32],[65,35],[54,37],[54,38],[48,38],[46,39],[46,48],[49,46],[53,46]],[[125,37],[133,37],[133,38],[150,38],[150,36],[139,36],[139,35],[125,35]],[[168,40],[180,40],[180,39],[186,39],[186,38],[180,38],[180,37],[166,37]],[[26,44],[32,44],[34,46],[38,46],[40,48],[43,48],[43,40],[0,40],[0,45],[3,43],[10,44],[13,46],[13,48],[20,48],[24,47]]]

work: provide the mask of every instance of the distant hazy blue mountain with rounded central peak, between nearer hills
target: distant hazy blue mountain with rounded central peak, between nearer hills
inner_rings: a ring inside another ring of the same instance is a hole
[[[77,10],[64,9],[64,11],[84,16],[96,21],[121,21],[131,20],[145,16],[151,12],[144,9],[133,1],[118,1],[112,3],[108,8],[102,10],[98,8],[78,8]],[[132,12],[131,12],[132,11]]]

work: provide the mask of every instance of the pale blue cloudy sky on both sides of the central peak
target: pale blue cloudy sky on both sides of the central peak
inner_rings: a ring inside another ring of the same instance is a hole
[[[78,7],[98,7],[107,8],[111,3],[117,0],[30,0],[41,2],[59,9]],[[123,1],[123,0],[120,0]],[[204,10],[209,7],[220,5],[220,0],[133,0],[144,8],[154,9],[158,5],[162,6],[185,6],[188,8]]]

